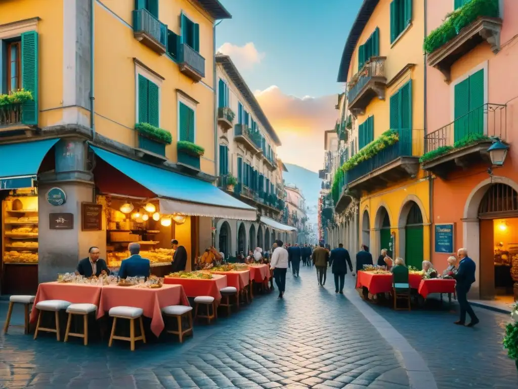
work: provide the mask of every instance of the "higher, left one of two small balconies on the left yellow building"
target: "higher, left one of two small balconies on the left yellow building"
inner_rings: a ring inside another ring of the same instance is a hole
[[[160,55],[167,48],[167,25],[156,19],[147,9],[133,11],[133,36]]]

